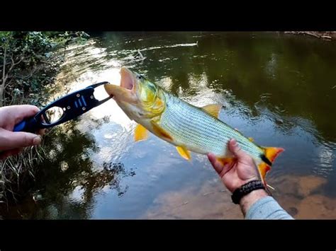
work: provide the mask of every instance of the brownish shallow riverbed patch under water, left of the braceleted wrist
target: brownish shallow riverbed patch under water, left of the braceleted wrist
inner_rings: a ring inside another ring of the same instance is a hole
[[[141,218],[241,219],[239,206],[231,201],[230,192],[218,179],[202,187],[185,187],[161,194]]]

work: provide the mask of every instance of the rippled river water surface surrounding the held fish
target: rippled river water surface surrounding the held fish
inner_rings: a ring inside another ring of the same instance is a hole
[[[194,105],[223,104],[227,124],[285,148],[267,176],[274,196],[298,218],[335,218],[333,42],[279,33],[103,33],[69,47],[52,98],[98,81],[118,84],[123,65]],[[38,192],[8,217],[242,218],[204,156],[186,163],[152,135],[135,143],[134,127],[110,100],[52,130]]]

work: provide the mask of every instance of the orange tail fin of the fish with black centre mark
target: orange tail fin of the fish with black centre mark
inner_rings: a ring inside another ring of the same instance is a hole
[[[279,154],[284,151],[284,148],[264,147],[263,150],[264,154],[260,156],[260,158],[262,159],[262,163],[258,165],[258,171],[262,179],[262,182],[264,183],[264,186],[267,187],[265,176],[267,172],[271,170],[271,165],[276,159],[276,157],[279,156]]]

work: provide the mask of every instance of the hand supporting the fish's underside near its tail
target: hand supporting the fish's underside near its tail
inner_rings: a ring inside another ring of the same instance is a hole
[[[230,192],[252,180],[259,180],[257,167],[252,158],[242,151],[237,145],[235,139],[229,141],[229,150],[235,156],[236,160],[233,163],[223,164],[215,158],[213,153],[208,153],[213,168],[220,176],[225,187],[228,187]]]

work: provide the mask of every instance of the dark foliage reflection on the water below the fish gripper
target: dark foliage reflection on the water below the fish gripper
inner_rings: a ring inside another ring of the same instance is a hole
[[[99,129],[103,119],[92,120]],[[99,151],[93,136],[83,134],[76,121],[47,133],[45,160],[37,167],[37,180],[22,204],[3,209],[4,218],[89,218],[94,195],[99,189],[115,189],[122,197],[122,177],[135,175],[123,163],[103,162],[95,165],[91,152]],[[69,214],[71,212],[71,214]]]

